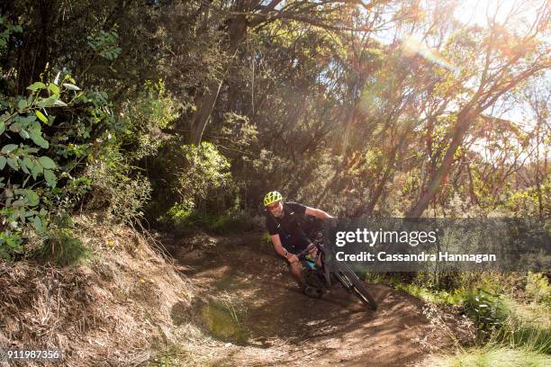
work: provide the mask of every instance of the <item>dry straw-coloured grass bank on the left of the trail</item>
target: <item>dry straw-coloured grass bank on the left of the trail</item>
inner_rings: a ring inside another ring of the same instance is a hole
[[[59,348],[71,366],[131,366],[168,345],[201,344],[190,325],[194,289],[153,238],[76,223],[86,264],[0,263],[0,345]]]

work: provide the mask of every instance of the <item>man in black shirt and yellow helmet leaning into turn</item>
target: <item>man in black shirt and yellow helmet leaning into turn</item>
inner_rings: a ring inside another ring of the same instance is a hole
[[[272,191],[264,197],[266,208],[266,228],[270,239],[278,255],[285,257],[294,280],[302,288],[304,294],[309,297],[318,297],[318,290],[304,282],[303,267],[299,258],[295,255],[312,244],[300,227],[299,217],[304,214],[318,219],[335,219],[323,210],[307,207],[298,202],[284,202],[280,192]],[[317,255],[317,249],[313,248],[311,255]],[[321,259],[317,264],[321,267]]]

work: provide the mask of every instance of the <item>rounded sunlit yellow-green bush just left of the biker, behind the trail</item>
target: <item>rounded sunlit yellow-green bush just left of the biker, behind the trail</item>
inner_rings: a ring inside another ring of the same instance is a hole
[[[237,185],[231,178],[230,162],[211,143],[195,147],[178,139],[167,140],[152,166],[149,175],[154,177],[157,201],[147,210],[152,219],[182,230],[203,224],[210,229],[230,227],[231,220],[215,218],[239,209]]]

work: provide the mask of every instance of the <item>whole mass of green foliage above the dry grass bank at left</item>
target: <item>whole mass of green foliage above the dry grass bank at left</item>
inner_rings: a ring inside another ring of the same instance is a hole
[[[27,228],[45,234],[52,217],[86,201],[107,218],[141,215],[149,182],[132,172],[120,139],[126,120],[113,117],[104,92],[81,91],[70,76],[27,87],[28,96],[0,96],[0,210],[6,228],[0,255],[21,254]],[[130,127],[131,128],[131,127]],[[91,192],[93,191],[93,192]]]

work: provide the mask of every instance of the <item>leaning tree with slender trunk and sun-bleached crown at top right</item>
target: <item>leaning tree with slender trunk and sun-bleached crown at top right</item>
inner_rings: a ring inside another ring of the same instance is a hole
[[[524,6],[530,6],[528,18]],[[500,17],[496,9],[488,17],[488,27],[472,25],[454,34],[447,43],[445,57],[458,67],[461,85],[454,85],[456,112],[447,132],[447,146],[438,167],[421,188],[419,200],[408,217],[419,217],[437,195],[452,169],[456,151],[474,121],[529,78],[551,66],[548,40],[550,9],[546,1],[514,2]]]

